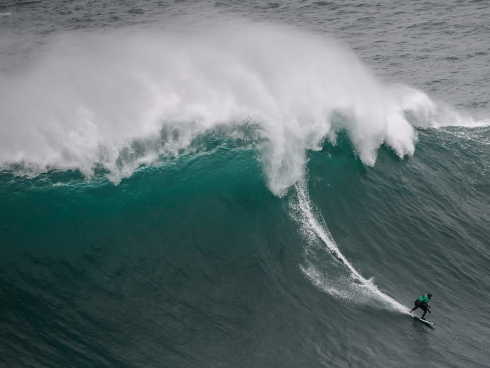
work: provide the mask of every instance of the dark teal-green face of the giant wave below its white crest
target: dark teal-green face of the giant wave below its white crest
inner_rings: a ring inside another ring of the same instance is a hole
[[[317,366],[335,354],[335,366],[390,365],[412,357],[417,334],[431,354],[473,346],[440,366],[483,367],[488,326],[469,335],[462,324],[489,307],[487,134],[422,130],[412,158],[385,147],[369,167],[344,133],[309,151],[283,197],[267,187],[260,150],[226,134],[118,185],[3,173],[2,359],[216,366],[242,354],[243,367]],[[407,314],[427,291],[434,330]],[[474,298],[468,315],[459,306]]]

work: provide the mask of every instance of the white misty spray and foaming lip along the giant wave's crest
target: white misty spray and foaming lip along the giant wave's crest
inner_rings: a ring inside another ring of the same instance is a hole
[[[102,167],[118,183],[200,135],[252,122],[269,188],[282,194],[306,151],[336,131],[374,165],[383,143],[413,155],[413,126],[440,125],[425,93],[381,83],[326,36],[236,20],[169,29],[56,36],[27,70],[1,75],[3,170],[91,178]]]

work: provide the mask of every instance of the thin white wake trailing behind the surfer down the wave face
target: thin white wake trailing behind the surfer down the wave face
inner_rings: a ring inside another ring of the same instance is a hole
[[[296,189],[297,201],[292,200],[290,202],[290,205],[295,212],[293,217],[300,223],[309,242],[313,240],[312,237],[319,238],[335,260],[347,268],[351,278],[347,284],[343,284],[344,289],[339,289],[338,285],[329,285],[329,280],[326,280],[321,276],[321,272],[318,271],[317,266],[314,266],[309,262],[307,267],[302,266],[301,268],[313,284],[334,296],[347,298],[354,302],[383,306],[386,309],[409,315],[408,307],[403,306],[381,291],[371,279],[364,278],[354,268],[352,263],[345,258],[342,252],[340,252],[327,224],[325,223],[325,219],[319,211],[313,210],[306,179],[303,178],[298,181],[294,185],[294,188]],[[380,303],[380,301],[382,301],[382,303]]]

